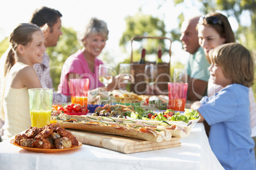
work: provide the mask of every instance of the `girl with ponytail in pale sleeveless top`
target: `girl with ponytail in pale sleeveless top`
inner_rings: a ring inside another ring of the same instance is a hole
[[[30,23],[21,23],[11,32],[11,49],[6,58],[4,84],[1,87],[3,140],[31,126],[27,89],[41,88],[33,65],[43,61],[44,42],[45,37],[39,27]]]

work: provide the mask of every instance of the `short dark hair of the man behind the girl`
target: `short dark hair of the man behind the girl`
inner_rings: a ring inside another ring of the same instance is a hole
[[[57,22],[57,19],[60,18],[61,16],[62,14],[58,10],[54,10],[53,8],[43,6],[34,11],[29,22],[34,23],[39,27],[47,23],[47,25],[52,30],[52,26]]]

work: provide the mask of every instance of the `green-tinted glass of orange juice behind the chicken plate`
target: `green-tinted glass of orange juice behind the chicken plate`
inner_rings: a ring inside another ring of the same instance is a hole
[[[52,94],[52,89],[29,89],[29,110],[32,127],[42,128],[46,124],[50,124]]]

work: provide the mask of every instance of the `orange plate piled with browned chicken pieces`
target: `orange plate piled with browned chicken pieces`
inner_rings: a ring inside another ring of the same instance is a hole
[[[56,153],[81,147],[82,143],[59,124],[48,124],[43,128],[31,127],[17,134],[11,144],[31,152]]]

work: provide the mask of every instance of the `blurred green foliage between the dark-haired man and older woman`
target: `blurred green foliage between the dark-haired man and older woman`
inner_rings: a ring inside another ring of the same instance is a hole
[[[47,48],[50,56],[50,74],[53,88],[56,90],[60,82],[62,65],[66,59],[81,48],[76,38],[76,32],[72,28],[62,27],[63,35],[60,36],[57,46]]]

